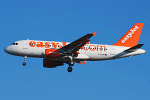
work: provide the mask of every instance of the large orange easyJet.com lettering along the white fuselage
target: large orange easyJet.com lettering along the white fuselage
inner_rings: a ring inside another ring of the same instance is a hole
[[[66,46],[68,43],[67,42],[35,42],[35,41],[30,41],[29,46],[30,47],[38,47],[38,48],[54,48],[58,49],[63,46]],[[85,51],[104,51],[106,52],[106,46],[102,45],[90,45],[86,44],[85,46],[80,48],[81,50]]]

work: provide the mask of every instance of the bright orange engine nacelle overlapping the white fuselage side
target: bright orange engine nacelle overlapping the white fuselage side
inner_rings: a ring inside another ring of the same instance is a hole
[[[46,49],[46,57],[47,58],[58,58],[60,51],[57,49]]]

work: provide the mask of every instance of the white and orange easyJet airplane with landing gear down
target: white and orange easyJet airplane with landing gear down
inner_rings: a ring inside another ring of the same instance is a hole
[[[131,29],[115,44],[91,44],[90,38],[97,32],[86,34],[73,42],[56,42],[40,40],[20,40],[7,46],[4,51],[8,54],[24,57],[43,58],[43,67],[55,68],[69,65],[72,72],[75,63],[85,64],[86,61],[101,61],[130,57],[146,53],[140,49],[144,44],[138,44],[144,23],[135,23]]]

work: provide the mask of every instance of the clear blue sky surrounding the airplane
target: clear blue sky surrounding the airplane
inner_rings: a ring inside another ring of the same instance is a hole
[[[0,100],[150,100],[149,0],[0,0]],[[72,42],[97,31],[91,43],[114,44],[144,23],[145,54],[116,60],[43,67],[42,58],[8,55],[18,40]]]

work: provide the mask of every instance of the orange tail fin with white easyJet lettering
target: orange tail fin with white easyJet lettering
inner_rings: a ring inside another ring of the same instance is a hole
[[[133,47],[138,44],[144,23],[135,23],[134,26],[115,44],[115,46]]]

